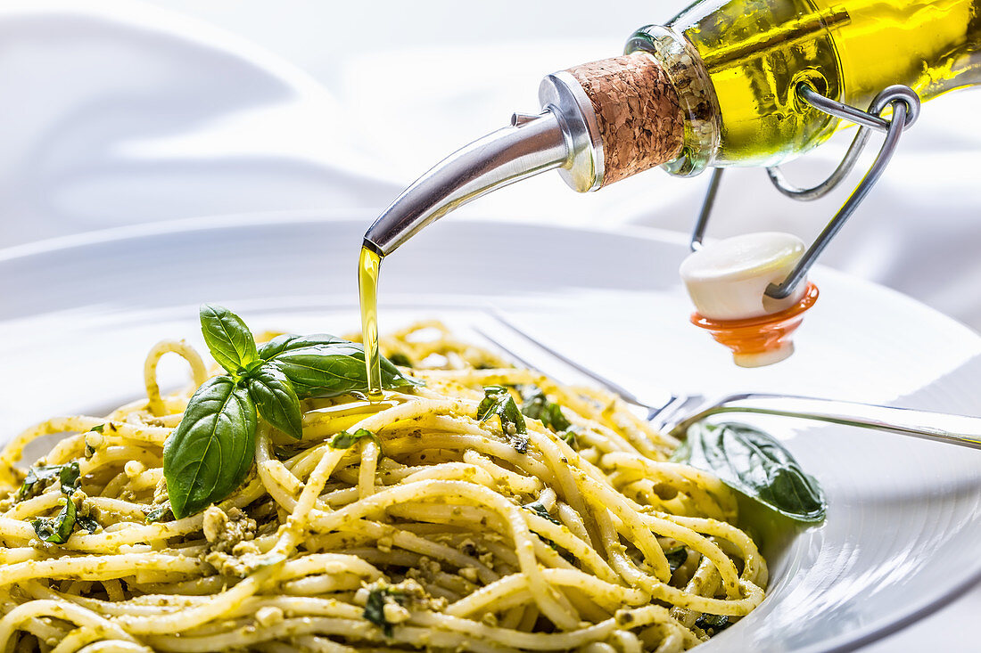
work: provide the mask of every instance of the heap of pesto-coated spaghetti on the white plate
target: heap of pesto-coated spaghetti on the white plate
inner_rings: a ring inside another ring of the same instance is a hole
[[[382,340],[425,387],[303,402],[259,427],[225,501],[175,520],[163,446],[193,388],[56,418],[0,456],[5,651],[680,651],[763,598],[766,565],[716,478],[619,400],[510,367],[437,323]],[[489,386],[524,402],[523,447]],[[28,471],[26,444],[60,440]],[[74,472],[55,477],[52,470]],[[66,485],[74,482],[74,490]],[[26,488],[26,489],[25,489]],[[68,503],[72,502],[74,510]],[[71,510],[64,543],[35,525]]]

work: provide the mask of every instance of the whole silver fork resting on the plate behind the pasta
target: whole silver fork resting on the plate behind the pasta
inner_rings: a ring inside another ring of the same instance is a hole
[[[491,313],[494,321],[507,331],[532,345],[538,354],[545,354],[561,361],[584,377],[589,377],[625,402],[647,411],[647,421],[661,432],[684,438],[688,427],[719,413],[756,413],[830,422],[849,427],[873,428],[902,435],[910,435],[935,442],[958,444],[981,449],[981,418],[951,415],[933,411],[921,411],[896,406],[881,406],[838,399],[821,399],[790,394],[765,392],[740,392],[708,397],[698,394],[671,394],[642,400],[619,383],[584,367],[560,351],[553,349],[530,333],[513,325],[497,313]],[[542,372],[541,367],[523,357],[514,347],[508,347],[501,338],[481,327],[475,328],[490,343],[507,353],[525,367]]]

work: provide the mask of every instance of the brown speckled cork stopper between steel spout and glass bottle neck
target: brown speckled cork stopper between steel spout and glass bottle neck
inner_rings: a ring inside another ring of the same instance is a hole
[[[671,80],[645,52],[570,68],[590,98],[603,143],[602,185],[673,161],[685,121]]]

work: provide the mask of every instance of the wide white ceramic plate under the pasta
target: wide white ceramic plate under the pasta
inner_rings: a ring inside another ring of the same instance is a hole
[[[0,251],[2,437],[137,396],[147,349],[200,343],[196,306],[253,329],[356,328],[355,263],[369,218],[235,217]],[[502,311],[639,395],[770,390],[981,414],[981,338],[901,295],[818,270],[798,352],[734,367],[688,324],[676,237],[651,231],[445,221],[390,257],[382,329],[439,317],[469,332]],[[169,370],[177,379],[184,374]],[[981,577],[978,452],[771,420],[829,498],[828,519],[766,543],[772,583],[749,618],[700,650],[852,648]]]

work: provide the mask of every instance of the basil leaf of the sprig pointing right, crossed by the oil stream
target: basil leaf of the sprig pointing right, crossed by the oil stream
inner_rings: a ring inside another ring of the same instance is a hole
[[[360,344],[336,342],[286,349],[269,362],[289,379],[301,399],[368,391],[365,353]],[[381,367],[382,387],[387,390],[423,384],[403,375],[387,358],[382,358]]]

